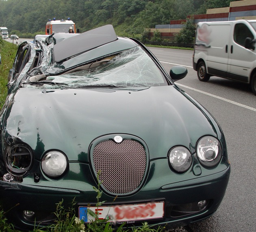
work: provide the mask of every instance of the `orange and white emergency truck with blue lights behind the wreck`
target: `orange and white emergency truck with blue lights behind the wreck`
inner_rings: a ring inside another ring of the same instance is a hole
[[[76,25],[70,18],[67,20],[56,20],[56,18],[53,18],[53,20],[49,19],[46,23],[46,35],[53,33],[69,33],[69,29],[71,28],[72,33],[79,33],[79,29],[76,31]]]

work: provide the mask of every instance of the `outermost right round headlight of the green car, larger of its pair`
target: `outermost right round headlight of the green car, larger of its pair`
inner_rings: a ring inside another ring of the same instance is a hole
[[[222,149],[217,138],[205,136],[197,143],[197,157],[204,166],[215,166],[221,159]]]

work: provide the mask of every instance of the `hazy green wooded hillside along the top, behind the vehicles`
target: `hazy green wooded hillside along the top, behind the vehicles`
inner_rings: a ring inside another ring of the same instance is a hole
[[[0,26],[10,34],[44,34],[49,19],[70,17],[81,32],[112,24],[120,36],[229,6],[232,0],[0,0]],[[15,33],[14,33],[15,32]]]

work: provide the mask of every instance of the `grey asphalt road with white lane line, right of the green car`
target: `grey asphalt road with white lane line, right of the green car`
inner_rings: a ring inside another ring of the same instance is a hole
[[[180,231],[255,232],[256,96],[247,84],[219,77],[199,81],[192,67],[193,51],[149,49],[167,72],[175,65],[188,69],[187,77],[176,84],[217,119],[225,134],[231,163],[230,181],[219,209],[209,219]]]

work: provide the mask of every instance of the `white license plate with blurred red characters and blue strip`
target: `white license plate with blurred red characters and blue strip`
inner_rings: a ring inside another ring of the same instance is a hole
[[[85,223],[95,220],[94,217],[87,213],[89,209],[96,214],[98,213],[99,219],[107,219],[111,222],[140,221],[164,217],[163,201],[99,207],[79,206],[79,219]]]

